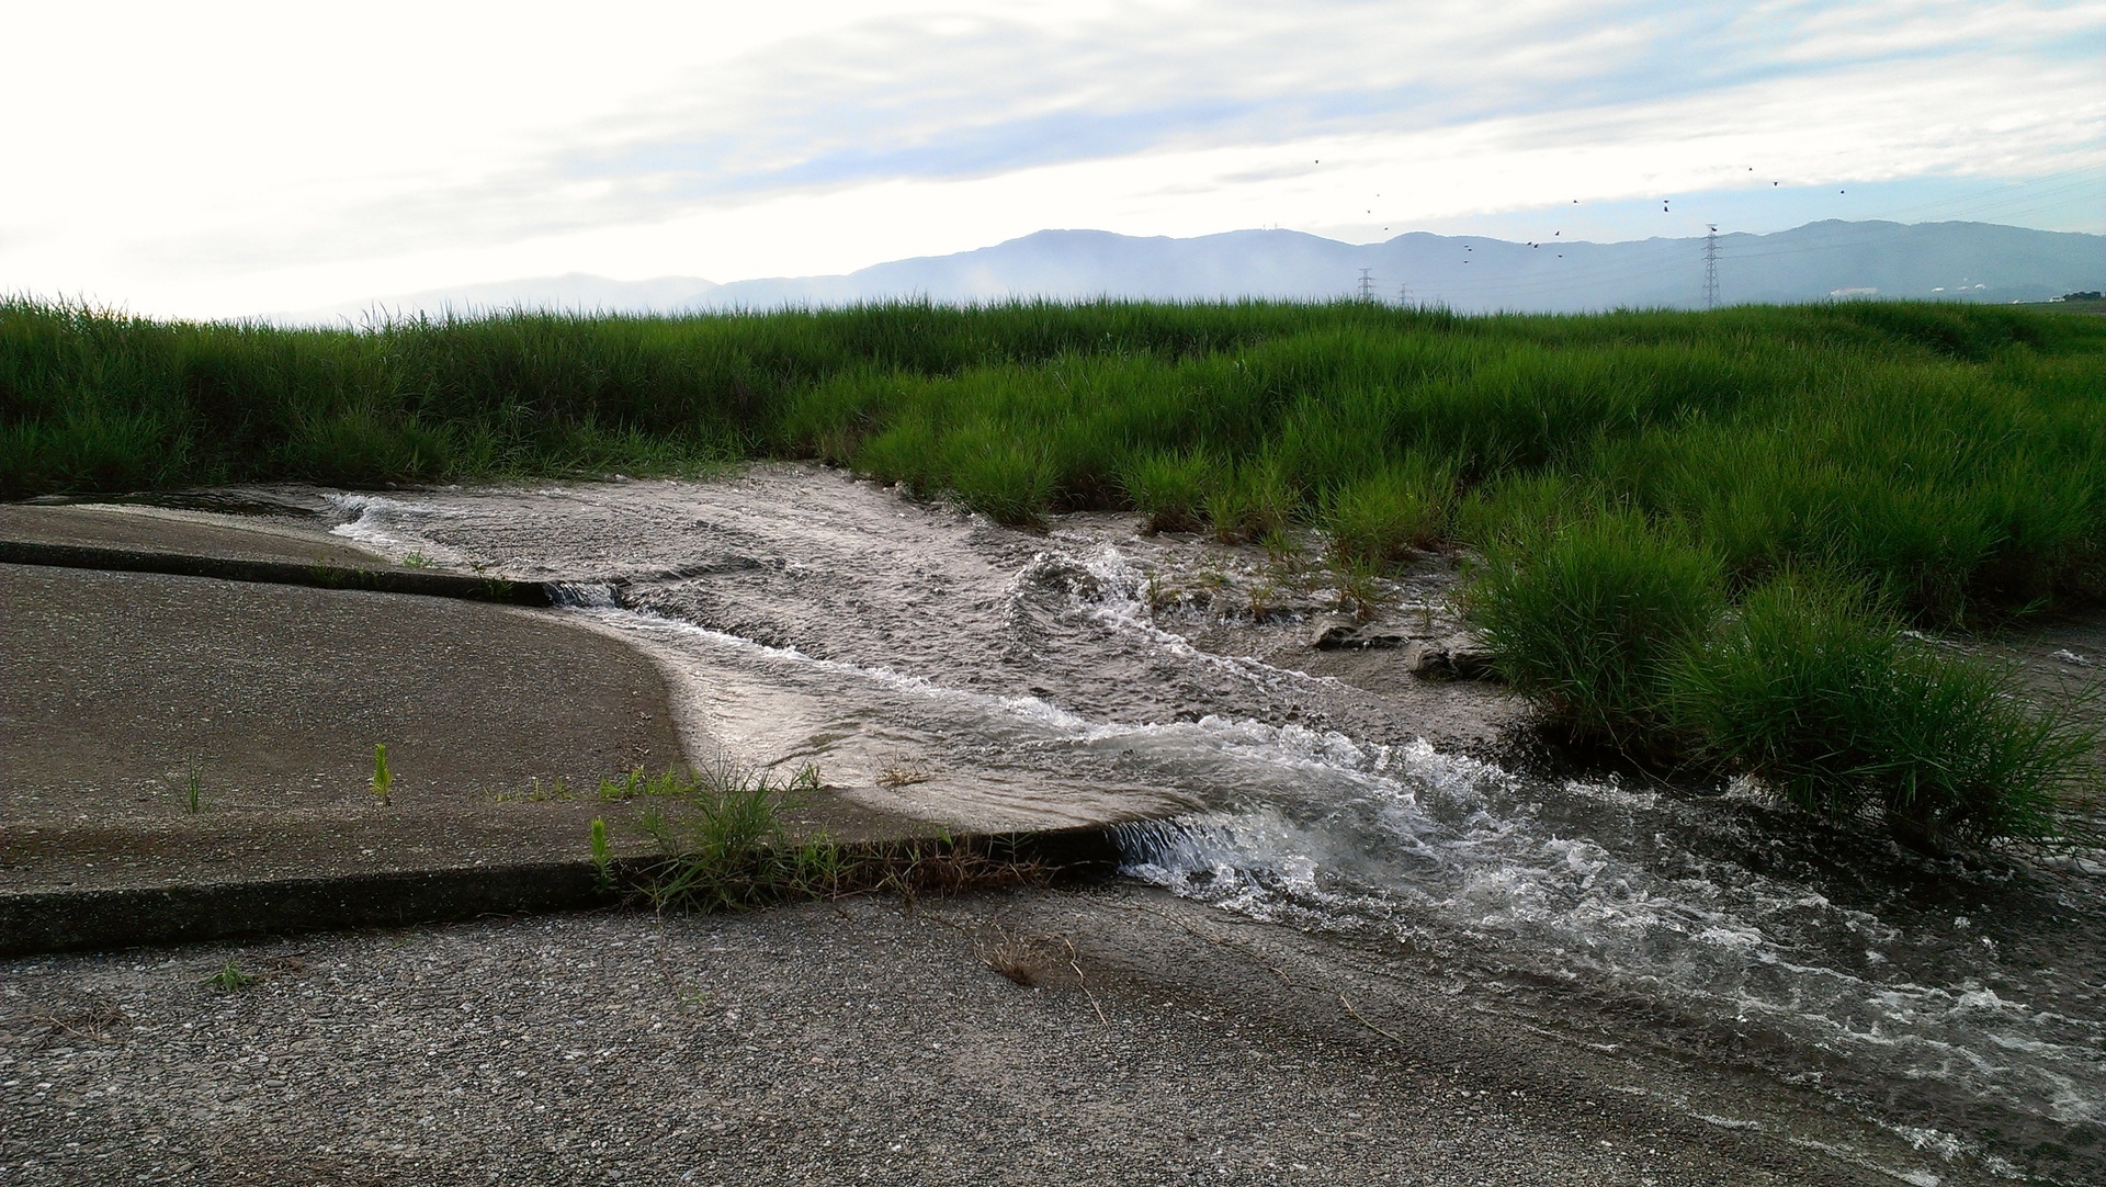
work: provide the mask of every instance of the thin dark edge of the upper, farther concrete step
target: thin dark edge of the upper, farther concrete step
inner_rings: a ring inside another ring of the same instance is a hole
[[[503,577],[463,577],[459,572],[419,572],[415,568],[352,568],[324,562],[236,560],[128,547],[0,541],[0,564],[217,577],[221,581],[307,585],[314,589],[373,589],[379,594],[419,594],[425,598],[499,602],[508,606],[554,604],[545,585]]]

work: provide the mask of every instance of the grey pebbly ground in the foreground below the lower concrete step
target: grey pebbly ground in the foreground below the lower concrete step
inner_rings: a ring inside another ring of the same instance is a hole
[[[1122,882],[46,955],[0,1183],[1967,1181],[1468,1002]]]

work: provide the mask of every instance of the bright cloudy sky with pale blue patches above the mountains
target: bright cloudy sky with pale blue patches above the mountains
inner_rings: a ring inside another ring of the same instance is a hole
[[[240,318],[1045,227],[2106,232],[2106,0],[13,4],[0,293]]]

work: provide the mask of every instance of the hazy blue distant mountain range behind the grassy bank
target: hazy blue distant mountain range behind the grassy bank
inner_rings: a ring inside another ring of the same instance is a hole
[[[1718,301],[1794,303],[1851,297],[2041,301],[2106,286],[2106,236],[1992,223],[1807,223],[1769,236],[1716,240]],[[1413,232],[1379,244],[1342,244],[1302,232],[1137,238],[1038,232],[958,255],[899,259],[847,276],[712,284],[699,278],[607,280],[550,276],[438,288],[286,316],[318,322],[381,309],[501,307],[701,311],[847,305],[897,297],[943,303],[1051,297],[1323,301],[1352,297],[1367,269],[1382,301],[1462,311],[1586,311],[1702,307],[1706,242],[1506,242]]]

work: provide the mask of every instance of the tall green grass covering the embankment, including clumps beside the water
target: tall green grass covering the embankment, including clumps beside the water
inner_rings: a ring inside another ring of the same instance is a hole
[[[371,333],[0,305],[0,495],[821,457],[1030,524],[1468,547],[1571,737],[1921,842],[2091,787],[2068,709],[1904,633],[2106,589],[2106,322],[1851,303],[1457,318],[885,305]]]

